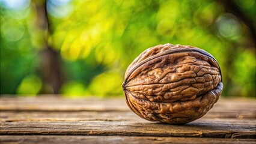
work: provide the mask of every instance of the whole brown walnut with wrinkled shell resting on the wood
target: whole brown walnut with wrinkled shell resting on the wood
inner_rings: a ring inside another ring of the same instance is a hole
[[[204,116],[223,89],[221,69],[210,53],[161,44],[145,50],[126,70],[126,103],[149,121],[186,124]]]

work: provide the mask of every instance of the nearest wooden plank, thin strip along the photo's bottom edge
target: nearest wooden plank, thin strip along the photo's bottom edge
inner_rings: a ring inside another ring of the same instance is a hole
[[[256,143],[255,139],[208,139],[192,137],[141,137],[141,136],[0,136],[1,143]]]

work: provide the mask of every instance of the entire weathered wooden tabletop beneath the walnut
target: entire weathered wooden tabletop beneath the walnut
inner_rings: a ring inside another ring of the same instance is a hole
[[[186,125],[146,121],[124,97],[2,97],[2,143],[256,143],[255,100],[225,100]]]

